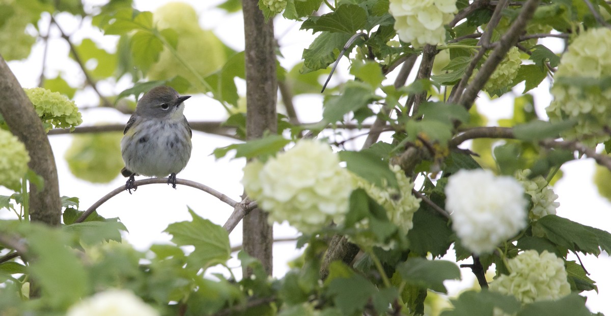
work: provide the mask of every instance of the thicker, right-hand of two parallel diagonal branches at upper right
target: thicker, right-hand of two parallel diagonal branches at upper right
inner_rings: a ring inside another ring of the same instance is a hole
[[[458,101],[459,104],[470,109],[477,98],[477,93],[480,92],[481,88],[484,87],[488,78],[492,75],[492,72],[499,65],[500,61],[503,60],[509,49],[518,43],[518,38],[524,31],[526,24],[532,18],[535,13],[536,7],[539,5],[539,0],[528,0],[522,6],[522,10],[511,24],[511,27],[507,33],[499,40],[499,46],[497,46],[490,54],[486,62],[481,66],[480,71],[477,73],[473,81],[467,86],[463,95],[460,96]],[[458,92],[460,93],[460,92]],[[456,99],[456,98],[455,98]],[[454,99],[454,100],[455,100]]]

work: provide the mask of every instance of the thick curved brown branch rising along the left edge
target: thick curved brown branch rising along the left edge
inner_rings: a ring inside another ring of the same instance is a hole
[[[13,135],[26,145],[31,159],[29,168],[44,180],[43,187],[30,184],[31,218],[53,226],[59,225],[62,207],[51,144],[32,102],[1,56],[0,92],[0,113]]]

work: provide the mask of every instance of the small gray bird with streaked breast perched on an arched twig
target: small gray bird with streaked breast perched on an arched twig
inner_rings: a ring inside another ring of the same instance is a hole
[[[191,96],[180,96],[173,88],[152,88],[138,101],[136,112],[125,125],[121,140],[121,154],[125,168],[123,176],[130,177],[125,189],[136,190],[134,176],[164,177],[176,189],[176,174],[185,168],[191,157],[191,127],[183,111],[183,101]]]

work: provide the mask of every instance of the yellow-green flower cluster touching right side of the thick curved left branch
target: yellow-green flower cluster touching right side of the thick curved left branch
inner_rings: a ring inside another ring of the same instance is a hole
[[[45,131],[54,127],[70,128],[74,131],[82,123],[81,112],[74,101],[70,101],[59,92],[51,92],[45,88],[25,88],[27,97],[34,104],[38,117],[45,126]]]

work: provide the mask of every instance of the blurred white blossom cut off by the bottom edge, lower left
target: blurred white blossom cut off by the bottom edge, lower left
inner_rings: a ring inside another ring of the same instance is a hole
[[[159,316],[159,312],[128,290],[107,290],[76,303],[67,316]]]

